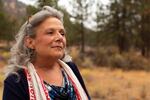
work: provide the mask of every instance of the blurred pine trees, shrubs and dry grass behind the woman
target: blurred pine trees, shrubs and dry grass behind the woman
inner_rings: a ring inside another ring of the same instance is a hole
[[[150,100],[150,0],[0,0],[0,97],[15,35],[43,5],[64,13],[92,100]]]

